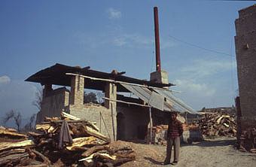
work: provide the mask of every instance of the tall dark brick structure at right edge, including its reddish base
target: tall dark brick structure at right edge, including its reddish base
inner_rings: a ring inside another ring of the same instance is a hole
[[[256,151],[256,5],[240,10],[235,24],[239,83],[237,138],[240,147]]]

